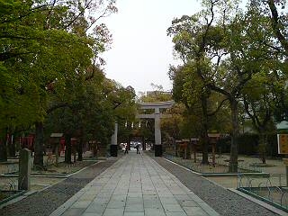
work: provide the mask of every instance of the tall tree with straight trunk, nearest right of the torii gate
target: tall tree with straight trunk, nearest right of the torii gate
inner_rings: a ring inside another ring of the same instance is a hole
[[[184,63],[181,69],[186,71],[184,87],[178,87],[176,91],[186,97],[186,106],[189,105],[189,100],[192,100],[190,103],[199,101],[202,107],[202,163],[207,164],[210,115],[208,100],[211,96],[211,82],[216,73],[215,69],[218,69],[221,59],[227,55],[227,51],[223,49],[223,29],[217,24],[226,26],[228,14],[233,14],[235,7],[231,1],[212,0],[202,1],[202,6],[203,9],[198,14],[175,19],[167,31],[168,35],[174,37],[175,51]],[[181,85],[181,78],[177,80]]]

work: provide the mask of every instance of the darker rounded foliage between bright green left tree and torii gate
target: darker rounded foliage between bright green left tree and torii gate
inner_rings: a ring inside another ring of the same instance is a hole
[[[134,118],[134,89],[105,78],[101,70],[95,71],[89,80],[84,79],[81,85],[71,85],[70,90],[74,94],[66,94],[65,106],[49,113],[48,134],[60,131],[106,145],[115,121],[121,125],[122,120]]]

